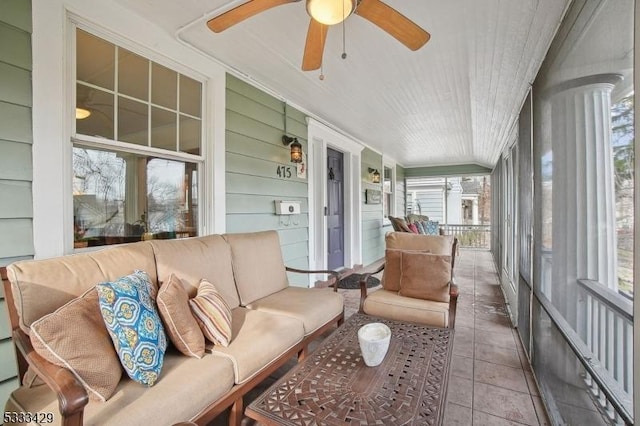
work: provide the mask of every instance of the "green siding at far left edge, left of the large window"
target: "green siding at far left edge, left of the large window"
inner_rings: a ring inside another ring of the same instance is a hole
[[[31,2],[0,5],[0,266],[33,255]],[[9,315],[0,289],[0,404],[18,387]]]

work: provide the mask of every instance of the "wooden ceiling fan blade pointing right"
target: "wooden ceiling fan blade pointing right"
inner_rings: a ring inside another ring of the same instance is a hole
[[[385,30],[411,50],[420,49],[431,38],[428,32],[380,0],[362,0],[355,13]]]

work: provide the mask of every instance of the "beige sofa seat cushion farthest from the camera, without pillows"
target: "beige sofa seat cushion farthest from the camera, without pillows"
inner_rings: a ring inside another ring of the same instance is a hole
[[[330,288],[287,287],[250,303],[247,308],[296,318],[304,324],[306,336],[340,315],[344,299]]]

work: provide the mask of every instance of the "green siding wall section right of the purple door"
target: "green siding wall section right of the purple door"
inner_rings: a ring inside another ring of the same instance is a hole
[[[366,204],[367,189],[382,191],[382,183],[371,183],[369,168],[382,173],[382,155],[365,148],[361,156],[362,167],[362,264],[369,265],[384,256],[384,229],[382,203]]]

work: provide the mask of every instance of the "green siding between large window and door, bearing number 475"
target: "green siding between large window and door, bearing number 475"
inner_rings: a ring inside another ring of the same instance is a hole
[[[275,229],[285,264],[309,268],[309,202],[307,179],[298,178],[282,144],[284,102],[227,75],[226,203],[227,232]],[[307,151],[304,114],[287,107],[287,133]],[[291,178],[278,177],[290,167]],[[298,201],[301,214],[278,216],[275,200]],[[292,285],[307,286],[306,275],[290,274]]]

